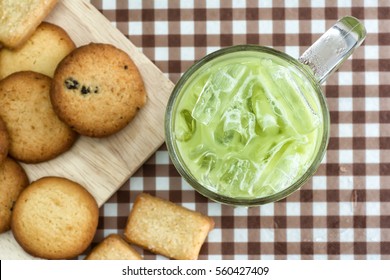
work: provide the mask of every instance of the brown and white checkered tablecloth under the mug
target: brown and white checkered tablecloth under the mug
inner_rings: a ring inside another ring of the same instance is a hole
[[[249,209],[214,203],[179,176],[163,145],[102,206],[94,244],[123,233],[136,195],[148,192],[214,218],[200,259],[390,259],[390,1],[91,2],[173,82],[225,46],[272,46],[297,58],[345,15],[368,33],[323,85],[329,147],[299,191]]]

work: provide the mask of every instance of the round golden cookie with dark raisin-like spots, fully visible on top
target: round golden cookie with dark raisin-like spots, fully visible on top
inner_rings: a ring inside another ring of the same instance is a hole
[[[124,128],[146,102],[141,75],[122,50],[91,43],[58,65],[50,91],[60,119],[82,135],[105,137]]]

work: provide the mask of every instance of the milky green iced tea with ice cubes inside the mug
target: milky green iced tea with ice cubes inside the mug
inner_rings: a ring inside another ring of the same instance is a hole
[[[197,68],[172,105],[171,143],[200,185],[261,198],[307,172],[323,141],[318,88],[271,52],[235,51]]]

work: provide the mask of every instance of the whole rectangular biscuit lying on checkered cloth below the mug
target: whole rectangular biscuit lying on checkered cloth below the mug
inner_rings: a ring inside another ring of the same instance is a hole
[[[142,193],[130,212],[124,236],[168,258],[194,260],[213,227],[210,217]]]

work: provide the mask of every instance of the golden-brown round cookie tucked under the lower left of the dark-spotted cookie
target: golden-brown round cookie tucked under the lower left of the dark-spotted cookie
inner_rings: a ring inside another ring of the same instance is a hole
[[[50,160],[67,151],[77,134],[55,114],[51,79],[26,71],[0,81],[0,117],[10,135],[9,154],[26,163]]]

